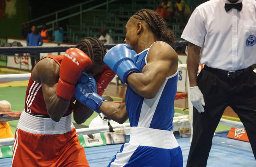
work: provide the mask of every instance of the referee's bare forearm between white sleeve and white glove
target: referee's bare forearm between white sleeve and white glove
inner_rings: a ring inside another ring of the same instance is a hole
[[[190,87],[197,86],[197,70],[200,60],[201,47],[189,43],[188,45],[188,76]]]

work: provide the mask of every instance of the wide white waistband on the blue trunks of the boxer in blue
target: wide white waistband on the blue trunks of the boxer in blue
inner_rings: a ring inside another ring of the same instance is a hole
[[[179,146],[172,131],[146,127],[131,127],[131,144],[172,149]]]

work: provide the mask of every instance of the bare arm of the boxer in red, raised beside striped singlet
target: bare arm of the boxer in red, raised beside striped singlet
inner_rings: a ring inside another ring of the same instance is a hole
[[[50,118],[56,122],[65,114],[70,100],[56,94],[59,79],[59,65],[51,58],[42,59],[32,71],[32,78],[41,83],[42,92]]]

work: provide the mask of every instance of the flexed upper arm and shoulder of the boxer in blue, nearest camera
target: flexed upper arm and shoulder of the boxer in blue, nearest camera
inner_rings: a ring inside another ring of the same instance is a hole
[[[178,56],[170,45],[157,42],[151,46],[147,55],[147,62],[142,73],[130,74],[127,77],[127,82],[137,94],[152,99],[166,77],[177,72]]]

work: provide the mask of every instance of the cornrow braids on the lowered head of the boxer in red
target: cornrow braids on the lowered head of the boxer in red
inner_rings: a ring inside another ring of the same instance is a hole
[[[97,38],[84,37],[75,47],[86,53],[92,62],[104,64],[103,58],[106,54],[106,46]]]

